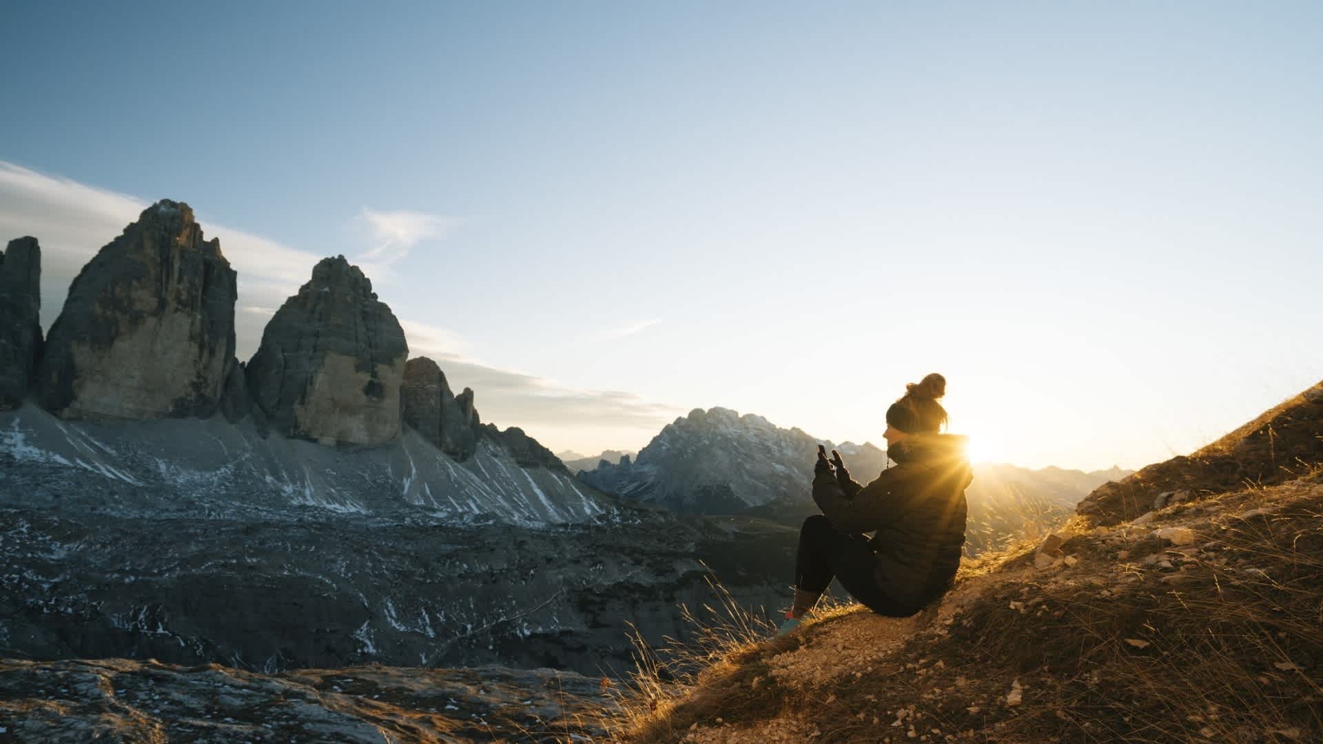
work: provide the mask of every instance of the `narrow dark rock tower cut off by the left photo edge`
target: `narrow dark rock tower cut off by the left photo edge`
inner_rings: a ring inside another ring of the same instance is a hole
[[[0,253],[0,410],[26,397],[41,355],[41,246],[9,241]]]

